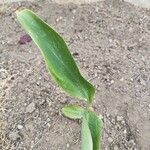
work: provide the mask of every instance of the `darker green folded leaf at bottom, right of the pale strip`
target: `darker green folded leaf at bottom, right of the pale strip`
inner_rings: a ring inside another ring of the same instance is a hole
[[[102,138],[102,127],[103,127],[102,119],[99,118],[92,111],[85,111],[84,114],[85,114],[84,117],[87,120],[88,127],[90,129],[90,133],[92,136],[93,150],[100,150],[100,143]]]

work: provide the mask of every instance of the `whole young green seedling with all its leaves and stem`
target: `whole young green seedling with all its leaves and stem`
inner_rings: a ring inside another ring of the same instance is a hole
[[[80,74],[63,38],[32,11],[18,11],[17,19],[41,50],[47,69],[54,81],[71,96],[85,100],[87,107],[67,105],[62,108],[65,116],[81,119],[81,150],[99,150],[102,119],[92,111],[95,88]]]

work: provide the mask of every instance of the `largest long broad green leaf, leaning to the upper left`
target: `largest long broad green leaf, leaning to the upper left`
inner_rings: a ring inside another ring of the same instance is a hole
[[[92,102],[94,87],[80,74],[63,38],[30,10],[17,19],[40,48],[53,79],[70,95]]]

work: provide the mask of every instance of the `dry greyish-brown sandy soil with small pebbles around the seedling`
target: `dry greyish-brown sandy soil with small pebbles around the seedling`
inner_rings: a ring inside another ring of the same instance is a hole
[[[21,8],[35,11],[64,36],[97,88],[102,150],[150,150],[150,11],[119,0],[0,7],[0,149],[80,149],[80,122],[60,109],[81,101],[53,83],[33,42],[18,43],[25,32],[14,12]]]

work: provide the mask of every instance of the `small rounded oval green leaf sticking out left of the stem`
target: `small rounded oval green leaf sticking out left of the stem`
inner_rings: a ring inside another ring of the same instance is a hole
[[[77,105],[67,105],[62,108],[64,115],[71,119],[81,119],[84,114],[84,109]]]

